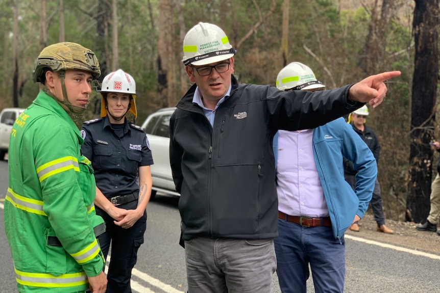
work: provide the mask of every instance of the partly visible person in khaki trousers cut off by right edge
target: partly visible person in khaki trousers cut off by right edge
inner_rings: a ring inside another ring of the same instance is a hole
[[[430,143],[437,151],[440,151],[440,142],[432,142]],[[440,235],[440,230],[437,231],[437,223],[440,218],[440,157],[437,161],[437,175],[435,175],[434,180],[431,183],[431,195],[430,195],[430,203],[431,208],[429,210],[428,218],[426,222],[417,225],[415,229],[419,231],[431,231],[437,232],[437,235]]]

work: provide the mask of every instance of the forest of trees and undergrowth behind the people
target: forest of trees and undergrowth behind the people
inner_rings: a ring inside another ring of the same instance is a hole
[[[121,68],[136,81],[137,124],[174,106],[190,86],[182,41],[199,21],[219,25],[237,49],[240,83],[275,85],[290,62],[310,66],[327,88],[400,70],[367,124],[382,146],[378,178],[386,217],[424,221],[437,152],[439,0],[0,0],[0,110],[36,97],[36,57],[48,44],[93,50],[101,79]],[[91,95],[77,125],[99,117]]]

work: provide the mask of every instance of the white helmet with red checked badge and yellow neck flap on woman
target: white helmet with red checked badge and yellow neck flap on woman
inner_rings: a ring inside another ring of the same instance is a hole
[[[124,72],[122,69],[110,72],[104,77],[101,90],[98,92],[101,92],[103,95],[101,102],[101,117],[107,116],[108,112],[104,98],[105,93],[124,93],[131,94],[133,97],[133,100],[130,101],[130,109],[128,111],[136,118],[136,82],[134,81],[133,76]]]

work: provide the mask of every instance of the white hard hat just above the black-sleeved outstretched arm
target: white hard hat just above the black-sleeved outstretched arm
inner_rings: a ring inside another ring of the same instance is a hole
[[[325,87],[316,80],[310,67],[300,62],[290,63],[281,69],[277,76],[277,88],[282,91],[325,89]]]

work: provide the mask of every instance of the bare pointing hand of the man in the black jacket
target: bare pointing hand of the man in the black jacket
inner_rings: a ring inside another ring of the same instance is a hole
[[[349,97],[356,102],[369,102],[376,108],[383,101],[387,91],[384,82],[399,75],[400,71],[388,71],[366,77],[350,88]]]

